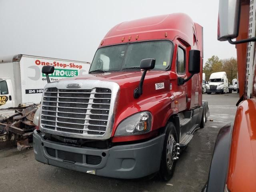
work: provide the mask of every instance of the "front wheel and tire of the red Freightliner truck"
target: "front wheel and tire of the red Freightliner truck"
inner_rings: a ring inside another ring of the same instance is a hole
[[[173,160],[175,154],[173,149],[176,147],[177,134],[176,128],[172,122],[168,122],[166,125],[166,135],[164,138],[164,147],[162,152],[162,160],[159,170],[159,176],[162,180],[168,181],[172,178],[176,160]],[[171,152],[171,153],[170,153]]]

